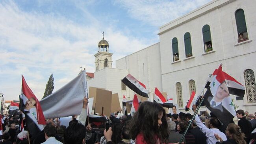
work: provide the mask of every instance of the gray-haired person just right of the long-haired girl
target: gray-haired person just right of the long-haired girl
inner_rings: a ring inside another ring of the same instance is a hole
[[[167,121],[168,124],[168,130],[170,132],[168,141],[169,143],[176,143],[180,142],[180,139],[182,138],[182,134],[175,132],[176,124],[174,121]],[[182,140],[186,144],[185,139]]]

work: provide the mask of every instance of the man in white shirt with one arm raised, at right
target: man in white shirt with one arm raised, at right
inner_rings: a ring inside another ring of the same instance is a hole
[[[196,107],[196,106],[193,105],[193,107]],[[209,128],[207,128],[200,121],[198,115],[197,114],[195,115],[196,115],[195,116],[196,124],[200,128],[200,130],[205,134],[207,144],[215,144],[217,142],[217,139],[215,138],[214,134],[219,135],[219,137],[221,137],[221,139],[223,140],[227,140],[226,135],[223,132],[219,131],[219,129],[217,129],[219,127],[219,121],[216,117],[210,118]]]

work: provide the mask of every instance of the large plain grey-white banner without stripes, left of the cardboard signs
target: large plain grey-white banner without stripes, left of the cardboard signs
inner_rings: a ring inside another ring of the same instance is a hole
[[[53,94],[40,101],[45,118],[80,115],[87,96],[85,70]],[[88,111],[88,110],[87,110]]]

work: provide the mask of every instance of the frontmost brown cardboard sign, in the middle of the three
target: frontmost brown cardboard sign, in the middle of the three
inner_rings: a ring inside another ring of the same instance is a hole
[[[95,101],[95,112],[103,115],[110,116],[111,113],[111,101],[112,92],[108,90],[96,89],[96,101]]]

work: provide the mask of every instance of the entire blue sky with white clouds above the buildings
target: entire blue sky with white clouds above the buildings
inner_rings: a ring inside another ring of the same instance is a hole
[[[158,28],[210,0],[1,0],[0,93],[18,100],[21,74],[41,99],[50,74],[55,89],[95,71],[98,41],[120,59],[159,41]]]

